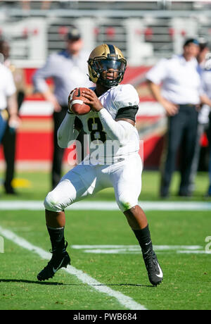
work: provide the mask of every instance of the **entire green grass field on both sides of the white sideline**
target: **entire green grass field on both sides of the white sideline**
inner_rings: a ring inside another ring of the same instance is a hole
[[[15,198],[1,192],[0,203],[8,200],[12,205],[14,200],[44,199],[49,190],[48,174],[19,173],[17,178],[30,180],[30,187],[17,188],[19,195]],[[158,180],[158,173],[143,173],[140,200],[158,200]],[[176,174],[170,201],[179,201],[178,182]],[[207,175],[201,173],[197,177],[197,190],[189,201],[205,200],[206,189]],[[104,190],[92,200],[93,204],[94,200],[113,200],[113,191]],[[205,254],[205,238],[211,236],[210,211],[146,211],[164,273],[164,281],[158,287],[148,282],[136,239],[120,211],[67,211],[66,215],[65,239],[69,243],[71,265],[82,270],[82,275],[98,280],[98,285],[84,283],[65,270],[59,270],[47,282],[38,282],[37,273],[47,261],[36,249],[30,251],[25,243],[22,246],[15,243],[14,237],[4,237],[4,253],[0,254],[1,310],[129,309],[121,303],[122,297],[117,299],[96,289],[101,287],[120,292],[149,310],[211,309],[211,254]],[[44,251],[51,248],[43,211],[1,210],[0,236],[2,229]]]

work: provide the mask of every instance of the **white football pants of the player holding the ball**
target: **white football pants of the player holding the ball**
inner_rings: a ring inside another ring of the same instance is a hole
[[[80,163],[62,177],[57,187],[44,201],[48,211],[63,211],[75,201],[113,187],[115,199],[122,212],[138,204],[141,193],[142,161],[139,154],[111,165],[83,165]]]

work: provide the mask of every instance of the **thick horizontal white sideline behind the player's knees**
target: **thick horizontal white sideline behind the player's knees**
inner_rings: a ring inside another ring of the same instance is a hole
[[[211,201],[139,201],[144,211],[210,211]],[[79,201],[67,208],[72,211],[119,211],[115,201]],[[4,211],[43,211],[43,201],[0,201]]]

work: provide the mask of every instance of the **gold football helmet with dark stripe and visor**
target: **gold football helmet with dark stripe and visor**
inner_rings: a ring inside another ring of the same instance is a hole
[[[126,66],[126,59],[122,55],[120,49],[115,45],[99,45],[89,56],[89,80],[94,83],[100,83],[107,88],[114,87],[122,81]],[[102,72],[108,71],[109,69],[117,72],[117,74],[115,73],[117,77],[113,76],[113,79],[102,77]]]

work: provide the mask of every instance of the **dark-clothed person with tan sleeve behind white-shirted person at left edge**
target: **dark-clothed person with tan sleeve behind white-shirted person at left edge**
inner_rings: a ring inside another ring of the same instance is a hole
[[[24,99],[24,82],[23,70],[15,68],[10,60],[10,46],[5,39],[0,40],[0,53],[4,56],[4,66],[11,70],[16,88],[16,99],[18,100],[18,111]],[[6,129],[2,138],[4,148],[4,158],[6,161],[6,177],[4,181],[4,189],[6,194],[15,194],[13,188],[13,177],[15,173],[15,143],[16,143],[16,128],[20,120],[18,118],[15,123],[6,123]]]

